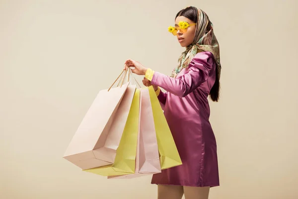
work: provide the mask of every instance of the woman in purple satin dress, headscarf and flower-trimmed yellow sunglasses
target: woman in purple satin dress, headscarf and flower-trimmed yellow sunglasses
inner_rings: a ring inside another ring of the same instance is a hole
[[[153,175],[151,184],[158,185],[158,199],[181,199],[183,194],[185,199],[208,199],[210,187],[219,186],[208,103],[209,95],[219,100],[219,44],[207,14],[193,6],[179,11],[175,27],[168,29],[186,47],[170,77],[137,61],[125,62],[133,73],[145,75],[145,86],[154,87],[182,160],[182,165]]]

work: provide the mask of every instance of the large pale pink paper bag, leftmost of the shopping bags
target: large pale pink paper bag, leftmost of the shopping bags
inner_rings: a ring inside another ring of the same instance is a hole
[[[111,165],[136,86],[129,83],[98,93],[82,119],[64,158],[81,169]]]

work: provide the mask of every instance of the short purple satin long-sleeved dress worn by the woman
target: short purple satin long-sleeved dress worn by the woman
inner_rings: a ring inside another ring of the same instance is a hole
[[[154,72],[151,83],[166,91],[160,91],[158,100],[182,165],[154,174],[151,184],[219,186],[217,144],[207,100],[215,77],[216,63],[211,52],[198,53],[176,78]]]

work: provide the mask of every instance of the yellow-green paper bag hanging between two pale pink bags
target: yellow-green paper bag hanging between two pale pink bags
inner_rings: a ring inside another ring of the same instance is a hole
[[[137,140],[140,132],[140,90],[136,90],[128,119],[112,165],[83,171],[101,176],[118,176],[135,173]]]

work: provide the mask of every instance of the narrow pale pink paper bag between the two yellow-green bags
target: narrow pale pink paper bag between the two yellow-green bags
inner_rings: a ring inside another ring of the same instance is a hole
[[[148,88],[141,90],[141,124],[135,174],[108,176],[108,179],[137,178],[161,172],[157,139]]]

